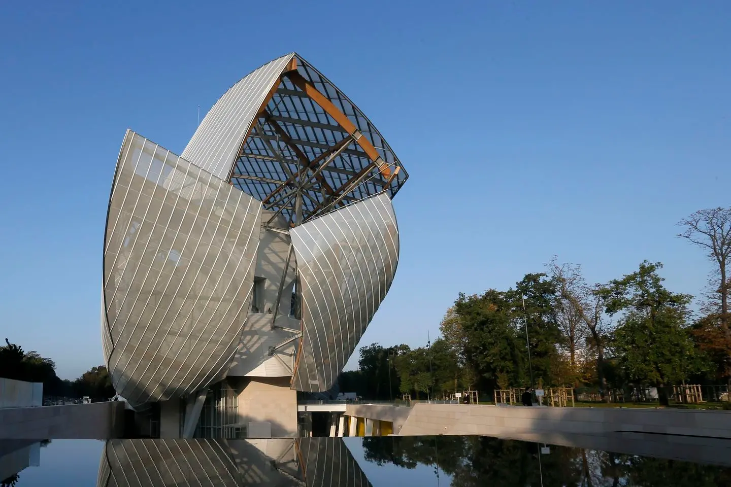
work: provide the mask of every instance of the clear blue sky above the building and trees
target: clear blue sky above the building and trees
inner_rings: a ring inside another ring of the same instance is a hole
[[[125,129],[181,153],[198,105],[292,50],[411,176],[398,272],[361,345],[424,345],[458,292],[554,254],[590,282],[662,261],[698,294],[710,266],[675,223],[730,204],[730,25],[728,1],[2,2],[0,340],[64,378],[101,364]]]

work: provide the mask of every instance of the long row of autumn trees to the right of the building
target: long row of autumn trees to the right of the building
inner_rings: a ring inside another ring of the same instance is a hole
[[[667,288],[660,262],[590,284],[580,265],[553,258],[514,287],[459,294],[425,347],[361,348],[338,386],[368,399],[567,386],[607,400],[610,389],[655,386],[666,404],[670,385],[731,386],[731,207],[678,225],[712,264],[697,310],[694,296]]]

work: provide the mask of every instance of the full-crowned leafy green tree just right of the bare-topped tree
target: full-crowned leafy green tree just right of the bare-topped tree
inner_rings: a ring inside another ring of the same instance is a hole
[[[694,372],[695,357],[687,305],[692,296],[668,291],[658,275],[662,264],[643,261],[640,269],[610,281],[602,291],[606,312],[621,313],[613,348],[627,377],[659,388],[685,380]]]

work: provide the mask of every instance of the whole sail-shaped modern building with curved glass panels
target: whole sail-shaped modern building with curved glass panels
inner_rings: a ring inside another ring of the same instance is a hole
[[[297,391],[336,383],[390,288],[407,177],[296,53],[229,88],[180,156],[127,131],[103,264],[117,393],[162,437],[295,436]]]

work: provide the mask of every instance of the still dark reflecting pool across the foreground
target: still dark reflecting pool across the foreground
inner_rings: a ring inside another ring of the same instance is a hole
[[[477,436],[0,440],[0,486],[731,486],[731,457],[678,460],[701,447],[662,458]]]

